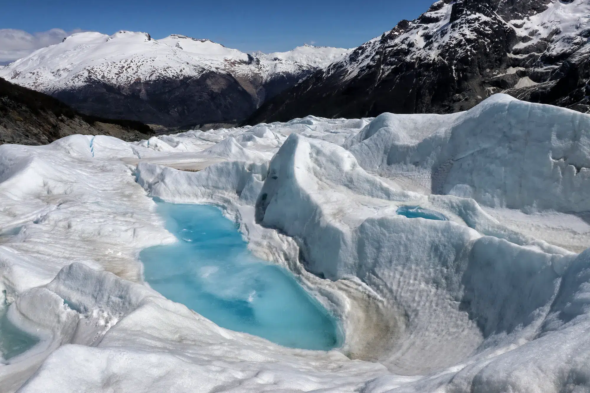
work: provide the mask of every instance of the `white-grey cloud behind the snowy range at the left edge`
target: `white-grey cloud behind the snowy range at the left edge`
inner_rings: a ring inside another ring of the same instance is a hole
[[[25,57],[39,48],[58,44],[64,37],[80,31],[51,29],[31,34],[23,30],[0,29],[0,64]]]

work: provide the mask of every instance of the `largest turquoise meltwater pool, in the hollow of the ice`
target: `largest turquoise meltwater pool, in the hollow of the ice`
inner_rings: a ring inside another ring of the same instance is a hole
[[[255,258],[218,208],[158,202],[171,245],[140,253],[145,280],[217,325],[291,348],[340,346],[337,319],[284,268]]]

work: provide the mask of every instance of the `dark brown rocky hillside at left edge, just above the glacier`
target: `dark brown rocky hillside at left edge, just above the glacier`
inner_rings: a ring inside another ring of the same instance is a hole
[[[77,113],[53,97],[0,78],[0,145],[45,145],[73,134],[140,140],[148,139],[152,132],[139,122]]]

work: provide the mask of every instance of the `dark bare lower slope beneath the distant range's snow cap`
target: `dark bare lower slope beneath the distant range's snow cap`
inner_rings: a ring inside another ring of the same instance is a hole
[[[265,98],[293,86],[307,74],[262,81],[256,75],[238,79],[207,72],[198,77],[135,81],[129,86],[113,86],[90,76],[84,86],[57,90],[52,96],[82,113],[188,129],[247,119]]]

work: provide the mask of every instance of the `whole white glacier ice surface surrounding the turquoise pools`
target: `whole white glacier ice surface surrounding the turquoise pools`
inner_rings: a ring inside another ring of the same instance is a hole
[[[143,284],[139,251],[175,241],[152,196],[221,207],[340,317],[343,347],[231,332]],[[587,114],[498,94],[451,115],[3,145],[0,198],[0,300],[41,339],[0,366],[2,392],[590,388]]]

